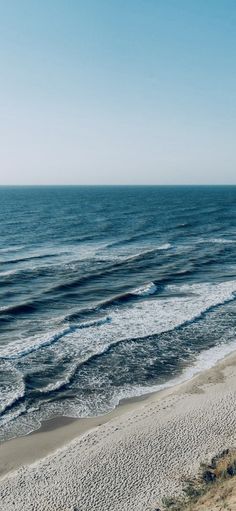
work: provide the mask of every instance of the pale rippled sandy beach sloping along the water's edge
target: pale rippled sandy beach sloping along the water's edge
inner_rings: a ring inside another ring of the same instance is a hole
[[[2,444],[3,473],[74,438],[2,477],[0,509],[155,509],[163,496],[181,491],[201,461],[236,445],[235,425],[234,354],[188,383],[125,403],[106,417],[64,421],[55,429],[59,424],[51,422],[39,433]]]

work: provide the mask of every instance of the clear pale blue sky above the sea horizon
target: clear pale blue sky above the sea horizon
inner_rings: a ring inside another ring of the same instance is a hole
[[[0,184],[236,184],[235,0],[0,0]]]

